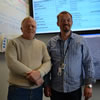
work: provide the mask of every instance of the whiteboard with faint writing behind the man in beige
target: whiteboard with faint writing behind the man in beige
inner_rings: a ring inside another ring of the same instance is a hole
[[[28,15],[28,0],[0,0],[0,34],[20,35],[21,21]]]

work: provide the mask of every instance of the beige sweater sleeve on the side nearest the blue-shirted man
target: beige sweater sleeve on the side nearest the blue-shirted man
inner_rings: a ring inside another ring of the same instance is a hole
[[[43,46],[42,46],[42,54],[43,54],[42,65],[40,66],[39,71],[40,71],[41,76],[43,77],[51,69],[50,56],[48,54],[47,47],[44,43],[43,43]]]

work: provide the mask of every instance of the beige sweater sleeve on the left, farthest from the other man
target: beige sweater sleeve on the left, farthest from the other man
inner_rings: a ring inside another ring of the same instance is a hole
[[[32,69],[17,59],[18,54],[16,48],[16,43],[13,40],[9,41],[5,52],[8,68],[13,73],[26,76],[26,73],[32,71]]]

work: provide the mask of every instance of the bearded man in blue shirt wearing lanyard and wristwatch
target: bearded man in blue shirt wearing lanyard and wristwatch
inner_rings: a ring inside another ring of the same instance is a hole
[[[44,93],[51,100],[81,100],[83,84],[85,100],[92,96],[92,58],[85,40],[71,31],[72,23],[69,12],[58,14],[60,33],[48,42],[52,69],[45,77]]]

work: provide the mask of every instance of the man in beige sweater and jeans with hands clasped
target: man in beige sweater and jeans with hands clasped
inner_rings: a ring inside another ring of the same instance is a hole
[[[35,38],[36,21],[26,17],[22,35],[10,40],[6,49],[9,68],[8,100],[42,100],[43,77],[51,69],[45,44]]]

